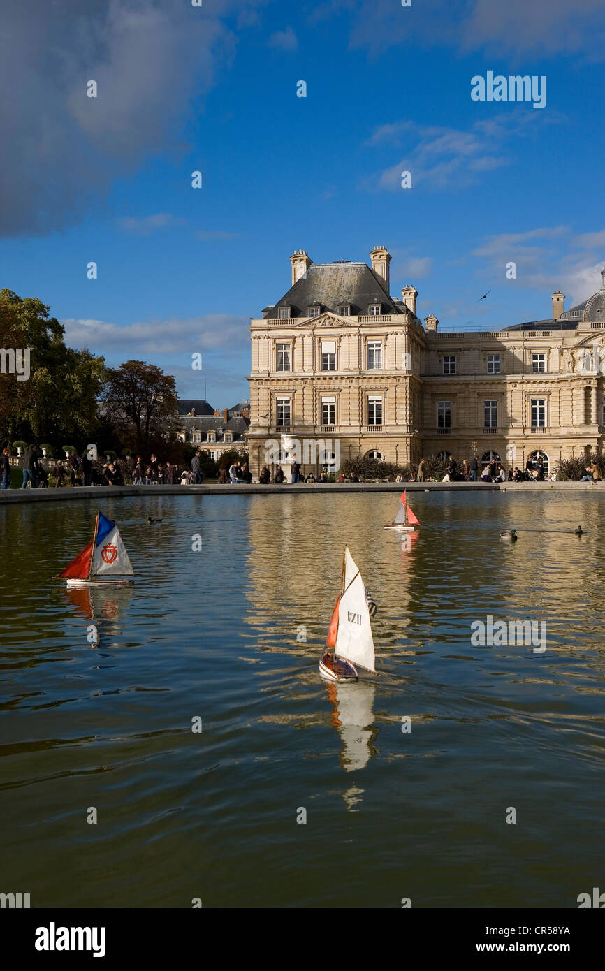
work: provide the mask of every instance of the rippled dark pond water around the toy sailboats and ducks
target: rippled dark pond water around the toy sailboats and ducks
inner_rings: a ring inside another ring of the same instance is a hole
[[[383,529],[393,493],[103,500],[135,583],[70,593],[55,576],[96,507],[0,506],[0,890],[577,907],[602,886],[602,498],[409,498],[411,538]],[[379,673],[335,687],[318,661],[345,543]],[[546,651],[474,646],[487,616],[545,621]]]

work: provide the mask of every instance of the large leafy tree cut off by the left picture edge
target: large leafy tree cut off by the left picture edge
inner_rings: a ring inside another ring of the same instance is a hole
[[[0,374],[2,438],[57,443],[66,435],[85,438],[96,426],[105,362],[86,349],[66,347],[64,332],[38,298],[0,290],[3,370],[10,370],[8,352],[16,352],[21,363],[21,374]]]

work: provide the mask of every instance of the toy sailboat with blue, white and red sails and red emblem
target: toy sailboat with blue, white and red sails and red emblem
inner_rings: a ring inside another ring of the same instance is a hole
[[[67,586],[121,586],[131,584],[132,563],[118,526],[100,511],[88,546],[59,573]]]

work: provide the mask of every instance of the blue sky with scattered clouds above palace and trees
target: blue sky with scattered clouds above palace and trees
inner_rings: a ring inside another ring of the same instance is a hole
[[[568,309],[601,284],[601,0],[9,0],[5,20],[0,285],[183,397],[247,396],[249,318],[295,249],[384,244],[391,293],[415,284],[446,330],[548,318],[554,289]],[[472,101],[488,70],[545,76],[546,107]]]

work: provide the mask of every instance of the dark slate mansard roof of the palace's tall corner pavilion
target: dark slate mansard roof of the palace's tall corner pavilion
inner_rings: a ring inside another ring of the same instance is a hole
[[[323,310],[338,314],[343,304],[351,305],[353,317],[366,315],[370,304],[383,305],[384,314],[404,314],[401,301],[393,300],[385,289],[383,278],[366,263],[313,263],[304,277],[290,286],[273,307],[263,311],[263,318],[277,317],[278,307],[290,308],[290,317],[308,317],[308,309],[320,304]]]

